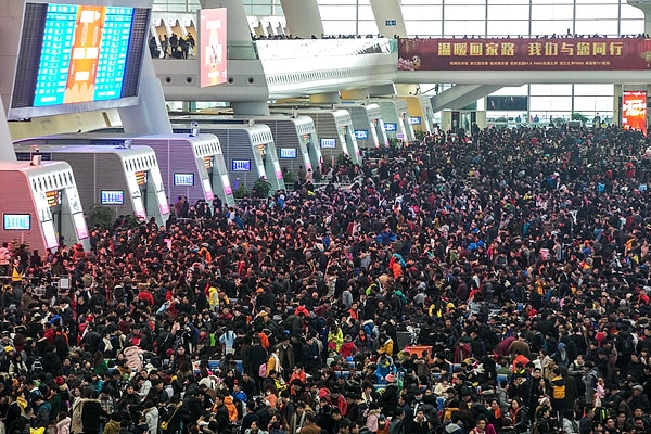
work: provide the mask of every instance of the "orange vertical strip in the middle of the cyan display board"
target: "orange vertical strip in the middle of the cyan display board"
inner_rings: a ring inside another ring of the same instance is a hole
[[[89,5],[77,11],[64,103],[93,100],[105,11],[105,7]]]

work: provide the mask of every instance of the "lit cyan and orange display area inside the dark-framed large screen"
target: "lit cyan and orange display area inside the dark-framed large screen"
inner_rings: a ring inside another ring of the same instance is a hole
[[[48,4],[35,106],[122,97],[133,8]]]

